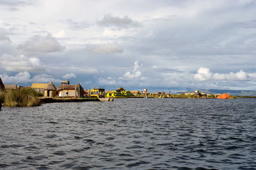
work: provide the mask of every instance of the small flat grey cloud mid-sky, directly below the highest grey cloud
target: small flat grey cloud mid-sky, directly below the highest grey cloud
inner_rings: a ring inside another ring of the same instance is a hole
[[[100,45],[94,45],[90,48],[95,54],[111,54],[111,53],[122,53],[123,49],[118,43],[104,43]]]

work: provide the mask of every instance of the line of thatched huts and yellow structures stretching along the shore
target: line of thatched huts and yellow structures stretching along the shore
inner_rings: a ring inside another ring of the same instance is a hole
[[[32,88],[35,89],[38,93],[41,93],[44,97],[68,97],[68,98],[80,98],[80,97],[104,97],[105,94],[108,93],[116,93],[118,91],[126,91],[129,97],[154,97],[154,98],[170,98],[174,97],[174,94],[164,93],[164,92],[156,92],[150,93],[147,89],[143,89],[143,91],[135,90],[135,91],[127,91],[124,88],[118,88],[114,91],[106,91],[104,88],[92,88],[88,90],[84,90],[81,84],[70,84],[69,81],[62,81],[61,84],[56,88],[53,82],[49,82],[49,84],[45,83],[33,83],[30,87],[22,87],[17,86],[16,84],[3,84],[0,78],[0,89],[9,90],[19,90],[20,88]],[[198,98],[208,98],[209,94],[200,93],[198,90],[195,93],[176,93],[175,96],[185,95],[186,97],[198,97]],[[218,97],[221,94],[212,94],[211,97]]]

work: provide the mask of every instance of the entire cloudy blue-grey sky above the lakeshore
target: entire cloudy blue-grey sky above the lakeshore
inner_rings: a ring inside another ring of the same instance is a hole
[[[0,0],[4,84],[256,89],[254,0]]]

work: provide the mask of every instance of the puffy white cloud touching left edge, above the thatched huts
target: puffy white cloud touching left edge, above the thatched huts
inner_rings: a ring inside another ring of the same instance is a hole
[[[44,63],[39,58],[27,58],[24,55],[12,56],[3,54],[0,63],[6,71],[12,72],[40,72],[45,70]]]

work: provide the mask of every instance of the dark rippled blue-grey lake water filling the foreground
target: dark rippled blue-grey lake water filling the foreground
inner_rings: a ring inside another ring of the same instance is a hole
[[[4,169],[256,169],[256,99],[2,107]]]

